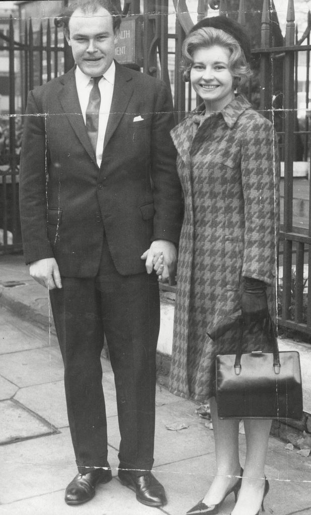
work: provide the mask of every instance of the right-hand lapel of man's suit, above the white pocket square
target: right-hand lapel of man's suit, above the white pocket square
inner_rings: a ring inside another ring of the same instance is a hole
[[[127,68],[124,68],[117,62],[115,62],[115,79],[114,89],[110,108],[110,115],[108,118],[108,124],[105,134],[105,142],[103,144],[103,150],[107,146],[112,134],[117,128],[120,119],[126,112],[127,105],[133,94],[133,87],[131,85],[132,77],[128,73]]]

